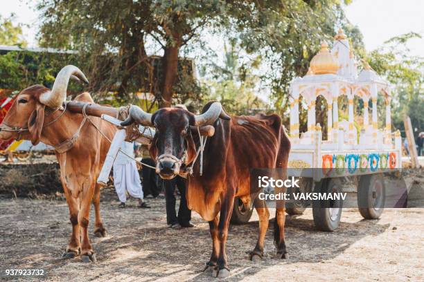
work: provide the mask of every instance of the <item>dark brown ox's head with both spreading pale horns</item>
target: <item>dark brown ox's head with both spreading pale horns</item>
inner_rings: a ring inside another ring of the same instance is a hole
[[[136,122],[156,128],[150,155],[157,160],[156,172],[159,176],[172,179],[179,174],[183,165],[190,164],[195,158],[192,130],[197,131],[198,126],[202,131],[202,128],[211,126],[218,118],[230,119],[219,102],[207,105],[206,111],[201,115],[194,115],[182,107],[163,108],[150,114],[138,106],[131,106],[130,115],[122,125]]]

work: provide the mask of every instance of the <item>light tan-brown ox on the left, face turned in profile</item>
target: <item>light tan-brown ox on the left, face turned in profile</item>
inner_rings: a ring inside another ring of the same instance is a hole
[[[88,235],[92,200],[96,211],[94,234],[105,236],[106,232],[100,218],[100,187],[96,185],[96,178],[103,166],[109,142],[90,122],[82,124],[83,115],[63,108],[71,77],[88,83],[76,66],[65,66],[58,73],[52,90],[34,85],[21,91],[0,124],[0,139],[23,138],[33,144],[42,141],[55,147],[72,223],[71,238],[63,257],[71,259],[81,254],[82,261],[90,262],[96,260]],[[93,103],[88,93],[78,95],[76,100]],[[116,115],[113,108],[105,109],[105,112]],[[113,138],[115,126],[99,118],[91,118],[91,122],[108,138]]]

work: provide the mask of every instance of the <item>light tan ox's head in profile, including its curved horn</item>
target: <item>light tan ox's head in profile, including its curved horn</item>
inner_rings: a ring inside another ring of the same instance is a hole
[[[88,84],[84,73],[76,66],[65,66],[56,76],[52,89],[33,85],[22,90],[0,124],[0,139],[24,138],[38,144],[44,124],[44,111],[55,111],[67,97],[69,79]]]

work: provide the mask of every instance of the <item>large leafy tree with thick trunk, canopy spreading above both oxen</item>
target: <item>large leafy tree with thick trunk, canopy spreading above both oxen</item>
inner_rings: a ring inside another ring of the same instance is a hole
[[[158,77],[151,92],[168,106],[182,48],[204,40],[204,28],[218,31],[272,64],[262,78],[278,105],[288,95],[290,79],[306,72],[319,41],[333,35],[337,23],[346,24],[341,5],[338,0],[41,0],[40,42],[81,50],[96,91],[114,88],[126,97],[141,79]],[[163,54],[157,76],[145,47],[152,42]]]

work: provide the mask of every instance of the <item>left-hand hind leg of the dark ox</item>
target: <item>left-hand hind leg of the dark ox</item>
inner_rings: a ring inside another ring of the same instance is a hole
[[[259,234],[256,246],[249,254],[249,259],[251,261],[263,259],[265,235],[267,234],[268,223],[270,222],[270,211],[268,210],[265,200],[259,200],[259,198],[256,198],[254,206],[259,216]]]

